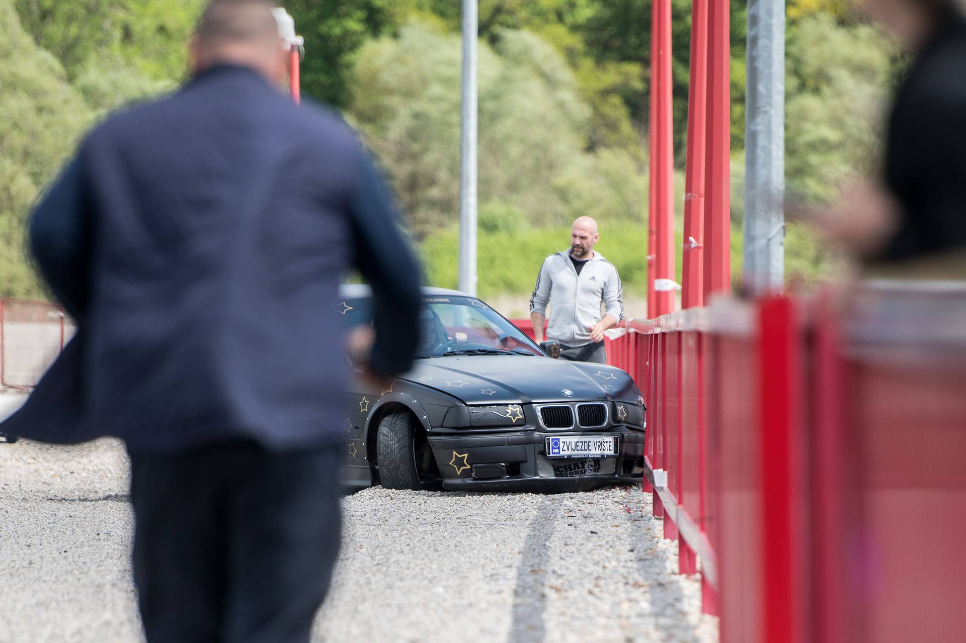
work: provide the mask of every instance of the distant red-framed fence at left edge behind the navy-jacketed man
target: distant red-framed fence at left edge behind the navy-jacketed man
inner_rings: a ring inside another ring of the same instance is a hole
[[[57,304],[0,299],[0,388],[36,384],[72,333]]]

